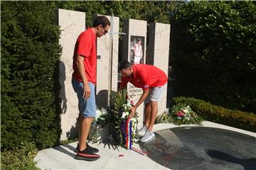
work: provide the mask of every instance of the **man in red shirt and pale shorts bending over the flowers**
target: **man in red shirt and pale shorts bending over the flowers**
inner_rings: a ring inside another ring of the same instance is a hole
[[[126,61],[119,64],[119,71],[122,73],[121,89],[125,88],[128,82],[143,89],[143,94],[139,101],[130,108],[131,113],[129,116],[132,118],[139,105],[145,101],[145,123],[138,133],[142,136],[142,142],[153,140],[155,135],[152,130],[158,112],[157,102],[161,101],[161,96],[166,88],[166,74],[153,65],[132,65]]]

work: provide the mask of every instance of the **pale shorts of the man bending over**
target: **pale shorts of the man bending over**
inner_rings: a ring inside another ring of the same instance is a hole
[[[145,103],[149,103],[150,101],[161,101],[161,97],[163,96],[164,89],[166,89],[167,83],[164,86],[154,87],[149,89],[149,95],[145,99]]]

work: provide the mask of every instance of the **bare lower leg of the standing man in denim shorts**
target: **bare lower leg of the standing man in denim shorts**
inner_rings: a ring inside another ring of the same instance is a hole
[[[79,149],[82,151],[86,149],[86,141],[90,132],[90,127],[94,118],[82,118],[80,124],[80,138],[79,138]]]

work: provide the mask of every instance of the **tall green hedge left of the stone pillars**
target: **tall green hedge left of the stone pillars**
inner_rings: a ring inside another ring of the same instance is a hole
[[[53,85],[60,31],[54,18],[45,1],[1,1],[1,148],[58,142]]]

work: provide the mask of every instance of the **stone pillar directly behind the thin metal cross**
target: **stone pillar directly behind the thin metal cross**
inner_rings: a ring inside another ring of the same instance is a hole
[[[92,21],[96,16],[92,17]],[[111,22],[109,33],[97,38],[96,103],[98,107],[107,106],[111,91],[117,91],[119,35],[115,33],[119,32],[119,17],[107,16],[107,18]]]

